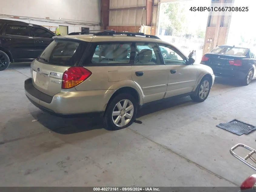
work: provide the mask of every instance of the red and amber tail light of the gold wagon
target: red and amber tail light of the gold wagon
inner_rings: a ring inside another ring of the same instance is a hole
[[[91,76],[91,71],[84,67],[70,67],[62,76],[62,89],[70,89],[82,83]]]

